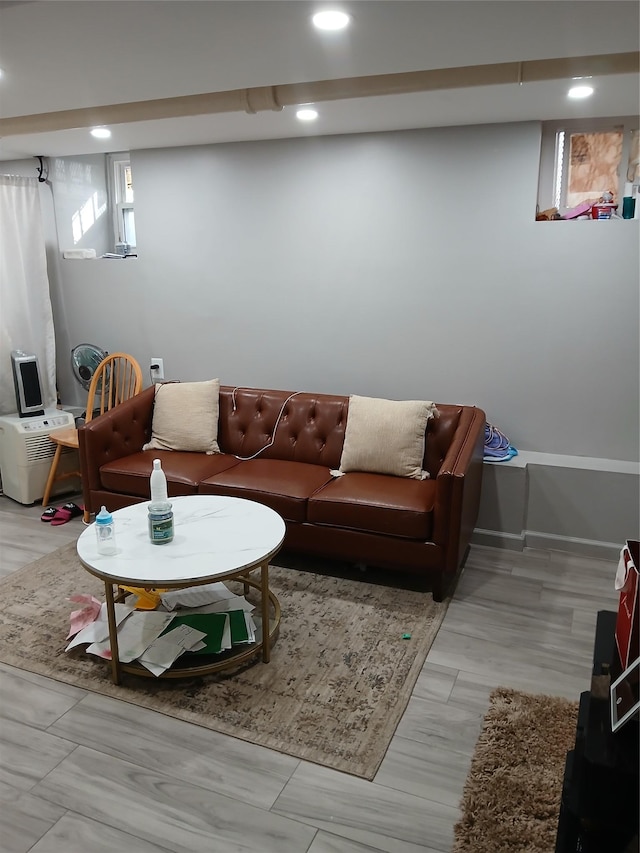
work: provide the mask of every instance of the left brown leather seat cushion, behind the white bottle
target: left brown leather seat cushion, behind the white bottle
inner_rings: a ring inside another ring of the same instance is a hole
[[[102,465],[102,488],[148,499],[154,459],[162,462],[169,497],[194,495],[201,480],[238,464],[235,456],[226,453],[209,456],[180,450],[144,450]]]

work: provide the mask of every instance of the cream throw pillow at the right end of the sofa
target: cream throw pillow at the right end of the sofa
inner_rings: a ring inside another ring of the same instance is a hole
[[[424,480],[422,470],[425,432],[429,418],[437,414],[428,400],[381,400],[375,397],[349,397],[349,412],[344,435],[340,469],[368,471]]]

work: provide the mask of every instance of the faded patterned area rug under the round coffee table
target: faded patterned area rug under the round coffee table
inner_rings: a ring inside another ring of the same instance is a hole
[[[274,566],[282,606],[271,661],[189,679],[124,675],[65,652],[68,596],[103,600],[66,545],[0,581],[0,661],[297,758],[372,779],[446,612],[429,592]],[[257,603],[257,602],[254,602]]]

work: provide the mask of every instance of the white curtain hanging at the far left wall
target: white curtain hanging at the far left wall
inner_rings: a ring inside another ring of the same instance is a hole
[[[45,406],[56,403],[53,313],[37,178],[0,175],[0,414],[17,409],[11,350],[38,357]]]

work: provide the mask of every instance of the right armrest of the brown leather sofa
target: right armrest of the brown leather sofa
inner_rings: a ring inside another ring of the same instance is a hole
[[[486,416],[464,406],[442,462],[434,507],[434,541],[446,546],[446,572],[456,572],[480,509]]]

